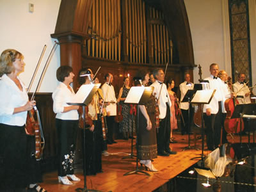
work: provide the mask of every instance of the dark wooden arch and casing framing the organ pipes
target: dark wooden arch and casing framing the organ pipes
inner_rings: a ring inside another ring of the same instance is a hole
[[[184,80],[184,72],[189,72],[193,79],[193,67],[195,67],[193,56],[193,45],[189,28],[188,15],[183,0],[145,0],[152,6],[159,6],[165,15],[165,22],[173,38],[173,44],[179,52],[179,63],[170,65],[167,76],[172,76],[177,83]],[[86,58],[82,55],[83,41],[90,38],[88,35],[88,24],[90,22],[90,12],[93,0],[62,0],[58,14],[56,28],[52,38],[57,38],[60,42],[61,65],[70,65],[75,74],[81,67],[90,66],[96,70],[103,66],[99,73],[101,82],[104,72],[113,72],[116,81],[116,92],[122,86],[122,78],[128,72],[136,72],[138,68],[152,70],[156,65],[131,65],[131,63],[116,61],[100,61],[95,58]],[[88,64],[90,63],[90,65]],[[163,66],[157,66],[163,67]],[[78,86],[74,81],[74,88]]]

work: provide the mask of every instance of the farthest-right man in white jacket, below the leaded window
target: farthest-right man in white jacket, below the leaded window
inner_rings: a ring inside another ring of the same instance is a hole
[[[237,93],[237,100],[239,104],[251,103],[250,89],[244,83],[245,74],[239,74],[238,81],[233,84],[234,92]]]

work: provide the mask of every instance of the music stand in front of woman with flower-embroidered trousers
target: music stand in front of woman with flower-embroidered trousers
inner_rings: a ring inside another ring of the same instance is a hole
[[[83,84],[79,90],[77,91],[76,95],[72,99],[72,102],[67,102],[68,105],[71,106],[82,106],[83,108],[83,173],[84,173],[84,188],[77,188],[76,191],[95,191],[95,189],[87,189],[86,187],[86,143],[85,143],[85,129],[86,129],[86,122],[85,122],[85,106],[88,106],[92,101],[93,95],[97,92],[100,87],[100,83],[96,84]],[[100,192],[100,191],[98,191]]]

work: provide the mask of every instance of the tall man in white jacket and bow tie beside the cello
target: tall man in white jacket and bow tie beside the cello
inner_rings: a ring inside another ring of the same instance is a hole
[[[223,95],[223,83],[218,76],[219,66],[216,63],[210,65],[211,75],[204,80],[209,81],[209,89],[216,90],[209,104],[204,105],[204,121],[207,134],[207,147],[209,150],[218,148],[221,132],[221,101]]]

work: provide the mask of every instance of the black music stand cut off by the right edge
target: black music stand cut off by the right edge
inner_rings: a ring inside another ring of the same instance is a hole
[[[256,118],[256,104],[250,103],[250,104],[237,104],[235,106],[234,112],[231,116],[231,118],[240,118],[240,127],[242,126],[242,119],[247,118],[250,120],[251,118]],[[249,122],[248,122],[249,123]],[[240,143],[242,143],[242,134],[240,132]],[[255,142],[255,131],[253,131],[253,143]],[[250,145],[250,129],[248,134],[248,143]]]

